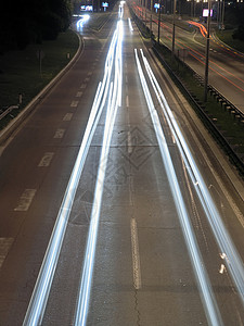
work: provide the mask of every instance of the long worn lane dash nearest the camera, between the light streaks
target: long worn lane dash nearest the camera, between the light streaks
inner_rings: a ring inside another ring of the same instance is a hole
[[[133,286],[137,290],[141,288],[141,266],[139,254],[139,241],[138,241],[138,226],[136,218],[130,220],[130,233],[131,233],[131,249],[132,249],[132,264],[133,264]]]

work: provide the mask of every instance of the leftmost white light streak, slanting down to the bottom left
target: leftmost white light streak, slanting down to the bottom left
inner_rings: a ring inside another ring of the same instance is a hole
[[[49,292],[51,289],[53,276],[55,273],[61,247],[66,231],[78,183],[84,170],[84,165],[86,162],[86,158],[90,148],[92,137],[94,135],[95,128],[98,126],[100,116],[102,114],[107,98],[108,87],[111,85],[110,80],[111,80],[111,73],[113,68],[114,47],[117,37],[116,35],[117,35],[117,29],[115,36],[112,39],[112,43],[107,53],[103,82],[99,83],[95,98],[92,104],[91,113],[82,138],[82,142],[56,217],[56,222],[35,285],[35,289],[25,315],[25,319],[23,322],[24,326],[40,325],[44,314],[47,301],[49,298]],[[121,82],[119,83],[121,85]]]

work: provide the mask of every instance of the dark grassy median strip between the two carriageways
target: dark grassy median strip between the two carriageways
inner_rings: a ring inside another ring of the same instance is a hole
[[[140,28],[140,24],[138,27]],[[172,58],[171,51],[165,46],[158,46],[155,42],[154,47],[156,48],[156,52],[159,53],[158,59],[160,59],[171,78],[182,90],[193,109],[195,109],[197,115],[201,117],[208,130],[213,134],[214,138],[227,152],[231,162],[237,167],[240,174],[244,176],[243,123],[240,123],[240,121],[235,120],[235,117],[226,111],[220,102],[218,102],[216,98],[209,93],[207,96],[206,103],[204,103],[204,108],[201,109],[202,112],[200,112],[200,106],[203,104],[201,103],[201,100],[204,98],[204,86],[196,78],[196,74],[182,61],[178,60],[177,58]],[[209,121],[211,121],[211,123],[209,123]],[[219,133],[216,134],[216,129]],[[224,145],[226,142],[223,141],[223,138],[228,141],[229,146]],[[230,150],[230,148],[232,150]]]

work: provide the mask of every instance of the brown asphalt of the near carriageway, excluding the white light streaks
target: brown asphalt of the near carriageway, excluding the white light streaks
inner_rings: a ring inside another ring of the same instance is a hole
[[[130,29],[128,17],[125,5],[123,101],[106,165],[86,325],[243,325],[243,301],[228,265],[232,258],[224,258],[226,252],[217,244],[218,235],[214,235],[197,197],[197,181],[191,180],[190,167],[183,162],[177,139],[149,86],[164,128],[163,146],[167,143],[172,161],[174,181],[168,172],[170,160],[164,164],[155,133],[157,124],[152,121],[154,115],[151,116],[143,93],[134,49],[143,49],[155,72],[242,261],[243,183],[151,57],[137,28]],[[103,78],[116,21],[115,12],[99,34],[80,30],[85,47],[77,63],[2,148],[0,325],[23,323],[95,89]],[[140,52],[139,60],[143,64]],[[146,80],[150,85],[149,77]],[[74,325],[80,277],[88,259],[85,252],[101,170],[104,124],[105,112],[78,184],[41,325]],[[180,208],[172,195],[177,184],[190,230],[185,227],[183,231]],[[193,255],[193,249],[185,244],[192,235],[198,248]],[[193,267],[197,263],[198,272]],[[200,275],[208,275],[202,281],[207,281],[206,292],[209,291],[213,305],[204,299]]]

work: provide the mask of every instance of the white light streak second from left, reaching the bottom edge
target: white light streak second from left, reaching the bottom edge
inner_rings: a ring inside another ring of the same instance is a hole
[[[121,40],[123,40],[123,22],[119,21],[117,24],[116,32],[117,42],[114,50],[115,53],[115,80],[111,84],[110,96],[104,126],[104,135],[102,142],[102,150],[100,156],[100,164],[98,168],[98,176],[95,183],[94,199],[90,218],[90,226],[88,231],[87,248],[85,254],[85,263],[82,269],[82,277],[80,280],[76,315],[75,315],[75,326],[84,326],[87,322],[87,315],[89,310],[89,299],[91,291],[91,281],[93,275],[94,255],[95,255],[95,244],[98,238],[98,228],[100,221],[100,211],[102,205],[102,196],[105,181],[106,164],[110,152],[110,145],[115,123],[115,117],[117,113],[117,108],[121,101]]]

